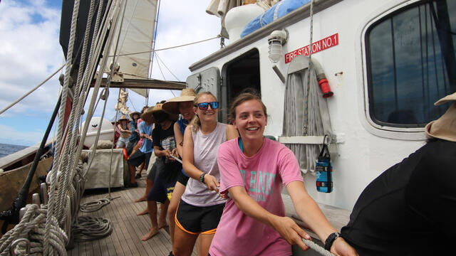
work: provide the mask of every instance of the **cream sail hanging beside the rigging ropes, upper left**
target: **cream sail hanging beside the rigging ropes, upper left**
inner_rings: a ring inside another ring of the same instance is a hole
[[[119,72],[123,78],[147,79],[152,49],[152,39],[155,33],[155,17],[157,14],[157,0],[130,0],[125,7],[122,27],[118,26],[119,38],[118,58]],[[120,33],[119,33],[120,31]],[[115,46],[111,47],[110,56],[114,55]],[[141,53],[139,53],[141,52]],[[138,53],[125,55],[128,53]],[[108,63],[112,63],[112,57]],[[109,65],[107,69],[109,69]],[[109,70],[105,70],[109,72]],[[146,89],[130,89],[147,97]]]

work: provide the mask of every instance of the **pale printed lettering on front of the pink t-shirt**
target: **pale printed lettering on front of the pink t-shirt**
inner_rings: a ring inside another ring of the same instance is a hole
[[[272,186],[274,186],[274,181],[276,180],[276,174],[269,174],[265,171],[247,171],[246,182],[246,171],[239,170],[242,179],[244,181],[244,186],[247,187],[247,193],[254,201],[264,202],[266,201],[266,196],[273,193]]]

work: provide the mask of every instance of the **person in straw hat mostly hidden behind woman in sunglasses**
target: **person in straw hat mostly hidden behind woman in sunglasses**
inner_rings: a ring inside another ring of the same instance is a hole
[[[184,132],[187,124],[189,124],[193,117],[195,116],[195,110],[193,106],[193,100],[195,100],[196,92],[192,88],[184,89],[180,92],[179,97],[173,97],[170,100],[167,100],[163,104],[163,110],[170,114],[180,114],[180,119],[177,120],[174,124],[174,136],[177,143],[177,154],[182,157],[182,145],[184,141]],[[180,198],[185,191],[185,186],[187,186],[187,181],[189,176],[185,174],[184,169],[181,169],[177,182],[172,191],[172,197],[170,200],[170,206],[168,207],[168,219],[170,220],[170,237],[171,243],[174,242],[174,230],[175,230],[175,220],[174,216],[176,215],[177,205],[179,204]],[[171,252],[172,255],[172,252]]]

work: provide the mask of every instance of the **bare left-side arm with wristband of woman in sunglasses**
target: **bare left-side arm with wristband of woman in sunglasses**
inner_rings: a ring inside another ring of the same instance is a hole
[[[199,177],[204,174],[203,171],[197,169],[193,161],[193,137],[191,125],[188,125],[187,128],[185,128],[184,145],[182,150],[182,167],[184,168],[185,174],[191,178],[195,178],[197,181],[199,181]],[[205,174],[204,183],[209,190],[216,191],[217,193],[219,192],[218,187],[220,184],[214,176]]]

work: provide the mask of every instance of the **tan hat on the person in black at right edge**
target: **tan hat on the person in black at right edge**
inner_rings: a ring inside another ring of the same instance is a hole
[[[442,97],[434,103],[434,105],[440,105],[449,101],[456,101],[456,92]],[[456,102],[448,108],[445,114],[426,125],[426,134],[429,137],[435,137],[438,139],[445,139],[450,142],[456,142]]]

